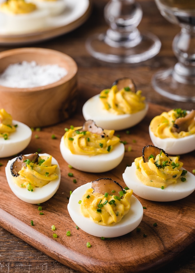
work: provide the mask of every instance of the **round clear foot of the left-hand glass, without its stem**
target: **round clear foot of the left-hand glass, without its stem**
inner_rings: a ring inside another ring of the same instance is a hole
[[[134,47],[110,46],[106,34],[95,34],[86,41],[88,52],[96,59],[110,63],[140,63],[159,53],[161,42],[152,33],[141,34],[141,41]]]

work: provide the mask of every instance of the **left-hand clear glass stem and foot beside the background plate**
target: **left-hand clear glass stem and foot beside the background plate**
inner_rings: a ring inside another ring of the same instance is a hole
[[[161,42],[150,32],[139,32],[142,16],[136,1],[110,0],[104,8],[109,28],[106,33],[89,37],[87,50],[93,57],[110,63],[139,63],[152,58],[160,51]]]

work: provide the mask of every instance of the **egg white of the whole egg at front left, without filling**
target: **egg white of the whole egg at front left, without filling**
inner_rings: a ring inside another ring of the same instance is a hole
[[[48,156],[47,153],[39,154],[40,156]],[[15,161],[17,157],[8,161],[7,166],[5,167],[5,174],[7,178],[7,182],[12,192],[22,201],[30,203],[30,204],[40,204],[47,200],[49,200],[58,190],[60,185],[60,167],[56,159],[52,157],[52,165],[58,165],[56,169],[56,174],[58,178],[50,181],[47,185],[43,187],[37,187],[33,189],[33,192],[27,190],[26,187],[19,187],[13,181],[13,176],[10,171],[11,164]]]

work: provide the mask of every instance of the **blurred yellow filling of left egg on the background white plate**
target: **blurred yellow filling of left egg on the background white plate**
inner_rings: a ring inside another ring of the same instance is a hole
[[[7,0],[0,6],[0,10],[9,14],[24,14],[35,11],[36,5],[26,3],[24,0]]]

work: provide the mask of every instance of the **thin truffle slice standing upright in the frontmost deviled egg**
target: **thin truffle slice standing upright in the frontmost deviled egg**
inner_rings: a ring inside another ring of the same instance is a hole
[[[93,189],[93,192],[101,194],[108,192],[109,195],[113,194],[119,197],[119,192],[123,191],[122,186],[111,178],[99,178],[94,180],[91,182],[91,188]]]

